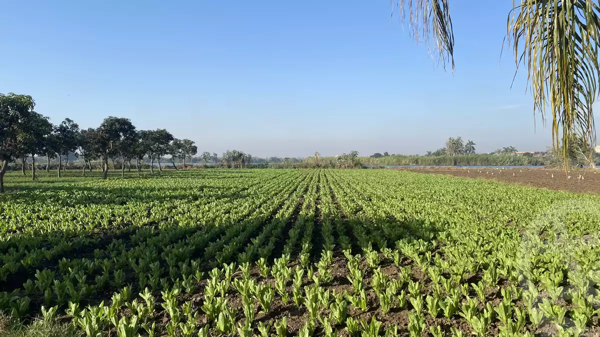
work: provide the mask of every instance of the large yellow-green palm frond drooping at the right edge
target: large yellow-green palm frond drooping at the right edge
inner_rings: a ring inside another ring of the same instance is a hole
[[[598,0],[521,0],[509,13],[509,46],[517,71],[527,68],[533,94],[533,113],[552,113],[553,146],[579,136],[596,142],[593,103],[598,97]],[[566,163],[567,164],[567,163]]]

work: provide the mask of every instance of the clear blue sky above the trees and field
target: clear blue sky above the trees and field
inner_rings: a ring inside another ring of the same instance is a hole
[[[476,2],[451,1],[454,76],[388,0],[4,2],[0,92],[55,123],[125,117],[200,152],[424,154],[450,136],[542,151],[526,74],[511,89],[500,58],[512,1]]]

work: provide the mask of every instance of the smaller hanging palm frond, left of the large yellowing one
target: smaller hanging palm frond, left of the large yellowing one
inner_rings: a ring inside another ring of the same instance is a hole
[[[391,0],[392,16],[398,13],[402,22],[409,22],[415,40],[429,47],[430,55],[454,73],[454,33],[448,0]],[[436,55],[437,54],[437,55]]]

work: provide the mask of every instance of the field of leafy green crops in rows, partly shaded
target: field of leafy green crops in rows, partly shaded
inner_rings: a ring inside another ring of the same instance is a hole
[[[598,196],[392,170],[15,179],[0,335],[600,334]]]

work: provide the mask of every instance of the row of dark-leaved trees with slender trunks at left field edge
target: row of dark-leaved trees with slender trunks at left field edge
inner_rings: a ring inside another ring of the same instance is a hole
[[[60,124],[52,124],[47,116],[34,111],[35,101],[29,95],[0,94],[0,192],[4,192],[4,174],[8,164],[20,160],[25,169],[32,158],[32,179],[35,179],[35,158],[46,157],[46,170],[50,160],[58,159],[57,174],[61,176],[62,159],[76,154],[83,160],[83,172],[91,169],[91,162],[100,160],[102,177],[109,171],[109,158],[121,158],[121,175],[125,163],[131,167],[135,162],[138,174],[142,161],[148,157],[150,170],[154,173],[154,160],[162,171],[160,160],[171,155],[182,160],[197,154],[198,148],[189,139],[176,139],[165,129],[137,130],[127,118],[109,116],[97,128],[80,129],[73,120],[66,118]],[[212,158],[208,152],[203,154]],[[233,158],[232,160],[237,160]],[[66,165],[66,163],[65,163]],[[175,167],[177,169],[177,167]]]

